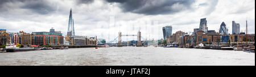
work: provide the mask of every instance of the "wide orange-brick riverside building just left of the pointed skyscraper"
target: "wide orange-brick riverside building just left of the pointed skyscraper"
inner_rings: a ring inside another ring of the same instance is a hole
[[[32,32],[32,45],[63,45],[64,37],[60,32]]]

